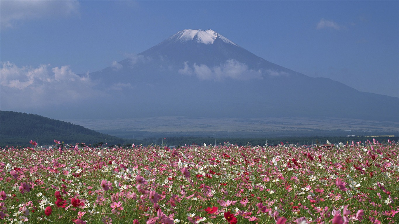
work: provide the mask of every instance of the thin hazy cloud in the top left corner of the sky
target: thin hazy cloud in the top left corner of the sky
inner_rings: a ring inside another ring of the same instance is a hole
[[[79,12],[77,0],[2,0],[0,28],[12,28],[25,20],[68,16]]]

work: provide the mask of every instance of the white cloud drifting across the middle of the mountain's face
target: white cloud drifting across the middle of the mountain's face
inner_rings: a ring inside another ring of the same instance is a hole
[[[184,68],[179,69],[179,73],[183,75],[195,75],[201,80],[248,80],[263,79],[261,71],[249,69],[244,63],[240,63],[234,59],[229,59],[226,63],[219,66],[209,68],[207,65],[197,65],[194,63],[193,68],[184,63]]]

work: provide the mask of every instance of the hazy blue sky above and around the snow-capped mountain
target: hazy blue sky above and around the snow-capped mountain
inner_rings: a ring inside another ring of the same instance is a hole
[[[10,68],[94,72],[182,29],[213,29],[288,69],[399,97],[398,9],[399,1],[0,0],[0,84]]]

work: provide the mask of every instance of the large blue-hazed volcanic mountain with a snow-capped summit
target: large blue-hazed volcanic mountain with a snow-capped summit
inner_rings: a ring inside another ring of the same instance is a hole
[[[119,117],[399,120],[397,97],[286,69],[211,29],[185,29],[89,76]]]

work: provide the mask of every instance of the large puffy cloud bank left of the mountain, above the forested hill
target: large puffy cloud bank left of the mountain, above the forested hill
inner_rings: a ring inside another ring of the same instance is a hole
[[[77,102],[99,94],[88,75],[76,75],[68,66],[18,67],[5,62],[0,68],[0,102],[6,108]]]

